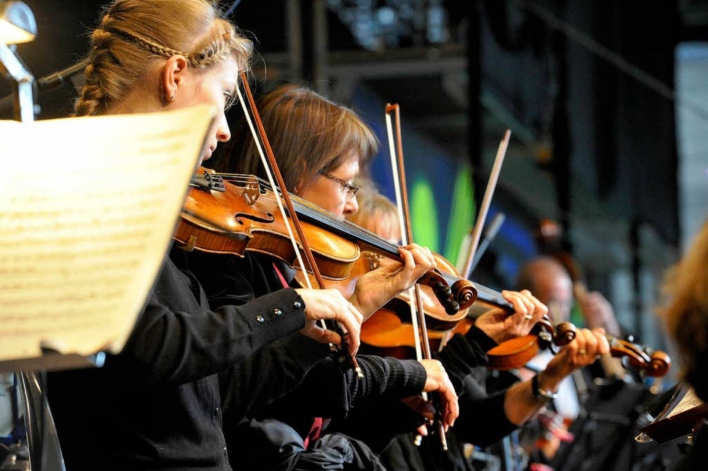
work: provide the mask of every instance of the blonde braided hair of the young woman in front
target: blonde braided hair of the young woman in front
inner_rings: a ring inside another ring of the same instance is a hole
[[[219,18],[207,0],[115,0],[91,35],[85,82],[74,115],[107,113],[144,76],[154,59],[183,55],[206,69],[234,57],[249,67],[253,43]]]

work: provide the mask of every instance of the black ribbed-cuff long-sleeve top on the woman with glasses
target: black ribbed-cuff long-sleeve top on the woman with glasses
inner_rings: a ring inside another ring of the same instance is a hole
[[[204,285],[212,307],[247,302],[282,286],[282,280],[273,267],[273,259],[268,256],[246,254],[243,258],[236,258],[194,253],[190,254],[190,263],[200,279],[208,280]],[[218,270],[209,269],[214,266],[218,266]],[[278,270],[285,273],[285,278],[292,279],[292,273],[288,273],[280,263]],[[264,350],[271,351],[276,357],[282,353],[284,357],[297,358],[297,348],[307,347],[295,345],[295,341],[295,338],[285,339]],[[282,350],[283,345],[292,346],[292,352]],[[256,412],[244,408],[243,403],[248,401],[246,397],[241,401],[234,400],[227,410],[228,420],[224,422],[227,438],[243,436],[244,427],[248,427],[245,419],[253,417],[277,418],[290,424],[301,436],[306,436],[313,416],[341,417],[350,408],[366,404],[375,397],[406,397],[423,390],[426,372],[416,361],[377,356],[357,358],[364,373],[363,379],[356,378],[352,371],[342,374],[331,358],[325,358],[309,372],[302,384],[267,409]],[[222,391],[228,391],[229,397],[239,395],[237,386],[243,382],[241,378],[248,375],[248,368],[246,361],[222,375]],[[317,399],[313,400],[314,397]],[[238,447],[238,438],[229,443],[229,448],[238,450]],[[241,453],[239,450],[242,463],[249,463],[248,451]]]

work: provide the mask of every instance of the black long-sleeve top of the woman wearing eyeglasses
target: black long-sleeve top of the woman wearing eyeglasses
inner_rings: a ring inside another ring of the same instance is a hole
[[[282,280],[276,270],[284,276],[286,283],[291,282],[294,277],[294,272],[289,268],[263,254],[247,252],[244,257],[236,257],[193,252],[188,258],[190,267],[205,286],[211,307],[215,309],[222,305],[251,302],[281,289]],[[273,358],[293,361],[293,358],[297,358],[300,353],[305,353],[308,348],[312,348],[302,339],[298,339],[298,336],[302,337],[300,334],[295,334],[265,348],[264,351],[268,351]],[[290,348],[290,351],[285,351],[285,348]],[[290,409],[290,404],[297,404],[295,407],[299,416],[346,414],[346,411],[358,400],[380,395],[413,395],[423,390],[425,385],[426,372],[416,361],[358,356],[364,373],[364,378],[359,379],[353,371],[341,374],[341,370],[331,358],[324,358],[325,355],[322,353],[324,348],[319,345],[316,347],[322,361],[307,375],[302,385],[284,397],[280,407],[277,404],[270,407],[271,411],[276,408]],[[262,356],[263,352],[259,352],[258,355]],[[249,361],[246,361],[234,365],[230,371],[222,375],[222,386],[224,390],[229,390],[229,396],[235,398],[236,395],[240,395],[238,385],[242,384],[241,378],[248,375],[250,368]],[[286,368],[283,370],[285,371]],[[316,402],[307,400],[307,395],[313,390],[316,390],[321,400]],[[234,418],[244,411],[244,416],[253,417],[255,413],[253,409],[246,410],[241,405],[235,404],[236,402],[242,404],[247,400],[246,397],[240,400],[234,399],[234,407],[237,411]]]

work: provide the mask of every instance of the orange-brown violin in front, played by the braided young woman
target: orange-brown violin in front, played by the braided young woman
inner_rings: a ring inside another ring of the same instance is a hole
[[[295,195],[290,198],[323,278],[350,278],[362,251],[402,261],[399,245],[307,200]],[[217,174],[200,167],[190,183],[173,237],[188,251],[236,256],[255,251],[295,266],[295,250],[278,212],[273,190],[255,176]],[[473,283],[462,278],[446,278],[438,269],[428,271],[418,283],[428,286],[448,315],[466,309],[476,298]]]

